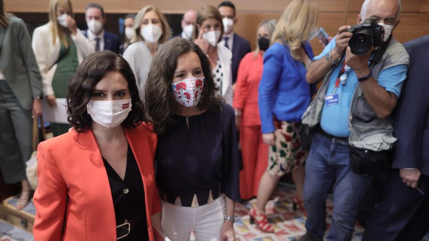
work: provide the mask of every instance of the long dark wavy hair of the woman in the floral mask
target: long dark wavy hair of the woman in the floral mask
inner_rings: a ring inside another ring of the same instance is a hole
[[[146,118],[154,126],[156,133],[162,135],[175,123],[173,114],[177,103],[173,96],[173,75],[176,71],[177,58],[183,54],[195,52],[204,73],[204,86],[197,107],[200,110],[220,111],[222,99],[215,95],[215,82],[209,58],[194,42],[174,38],[163,44],[152,60],[145,86]]]

